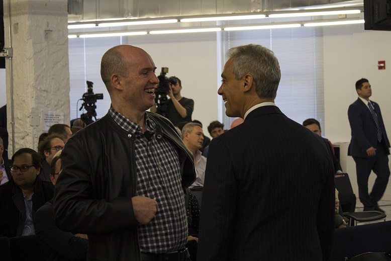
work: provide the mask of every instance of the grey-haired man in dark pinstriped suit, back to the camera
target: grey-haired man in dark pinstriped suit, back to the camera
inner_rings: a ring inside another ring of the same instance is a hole
[[[218,94],[244,122],[210,144],[199,260],[328,260],[334,172],[325,141],[275,106],[280,68],[260,45],[228,51]]]

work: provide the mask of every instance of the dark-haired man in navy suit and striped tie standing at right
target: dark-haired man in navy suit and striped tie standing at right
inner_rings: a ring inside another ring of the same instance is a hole
[[[364,211],[384,212],[377,205],[387,187],[389,177],[388,155],[389,141],[385,132],[380,107],[369,101],[372,95],[367,79],[356,82],[358,99],[349,106],[348,118],[352,138],[348,155],[356,162],[358,196],[364,205]],[[376,180],[368,194],[370,172],[376,174]]]

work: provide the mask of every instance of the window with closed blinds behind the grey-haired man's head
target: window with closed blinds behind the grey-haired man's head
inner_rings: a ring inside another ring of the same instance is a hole
[[[324,129],[323,30],[302,27],[223,31],[220,38],[222,68],[228,49],[250,43],[271,49],[279,61],[281,80],[275,104],[280,110],[300,124],[307,118],[315,118]],[[229,129],[234,118],[225,115],[224,104],[221,111],[221,119]]]

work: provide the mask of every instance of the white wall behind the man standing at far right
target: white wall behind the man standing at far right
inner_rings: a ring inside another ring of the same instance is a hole
[[[347,156],[350,126],[347,110],[357,99],[355,82],[367,78],[372,85],[371,100],[381,109],[385,129],[391,138],[391,32],[364,31],[363,25],[328,27],[324,29],[325,133],[333,143],[342,142],[341,166],[358,197],[356,169]],[[377,62],[385,60],[385,70]],[[369,188],[375,175],[370,176]],[[388,183],[383,200],[391,200]]]

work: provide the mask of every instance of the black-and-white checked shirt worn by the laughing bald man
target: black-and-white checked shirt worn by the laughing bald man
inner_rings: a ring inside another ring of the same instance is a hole
[[[140,224],[138,227],[141,251],[165,253],[183,248],[187,241],[187,221],[179,156],[175,145],[164,136],[156,138],[156,135],[152,135],[148,141],[141,126],[113,108],[110,108],[109,114],[121,128],[134,133],[136,195],[154,199],[158,203],[154,218],[148,224]],[[147,130],[155,133],[155,122],[147,114],[145,119]]]

